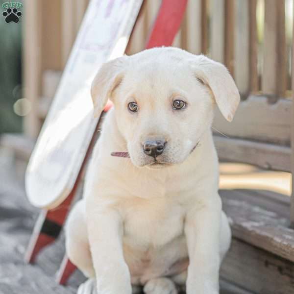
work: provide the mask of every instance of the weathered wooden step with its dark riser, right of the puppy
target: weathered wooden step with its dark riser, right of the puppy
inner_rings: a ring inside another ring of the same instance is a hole
[[[290,199],[243,190],[221,190],[220,195],[233,233],[221,277],[253,293],[292,294],[294,230],[289,228]]]

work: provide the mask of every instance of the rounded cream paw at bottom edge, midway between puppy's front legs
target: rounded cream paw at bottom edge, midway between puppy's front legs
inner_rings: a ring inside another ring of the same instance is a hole
[[[174,283],[168,278],[149,280],[144,286],[145,294],[177,294]]]

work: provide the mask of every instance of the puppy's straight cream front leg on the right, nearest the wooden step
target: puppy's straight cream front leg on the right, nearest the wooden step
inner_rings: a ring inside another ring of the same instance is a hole
[[[208,196],[210,197],[210,196]],[[185,221],[190,264],[187,294],[219,294],[221,199],[203,199]]]

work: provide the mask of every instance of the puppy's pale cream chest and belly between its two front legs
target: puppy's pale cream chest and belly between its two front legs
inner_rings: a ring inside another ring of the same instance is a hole
[[[184,209],[165,198],[142,200],[124,219],[123,252],[132,283],[186,268]]]

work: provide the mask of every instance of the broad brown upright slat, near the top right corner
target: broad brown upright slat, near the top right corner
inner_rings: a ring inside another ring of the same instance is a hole
[[[286,90],[285,0],[265,1],[262,91],[282,97]]]

